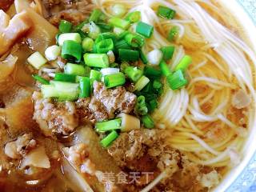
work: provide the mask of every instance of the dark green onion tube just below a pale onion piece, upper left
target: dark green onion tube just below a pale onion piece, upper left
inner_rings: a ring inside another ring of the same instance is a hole
[[[74,57],[78,61],[82,58],[82,46],[78,42],[67,40],[62,46],[62,58]]]

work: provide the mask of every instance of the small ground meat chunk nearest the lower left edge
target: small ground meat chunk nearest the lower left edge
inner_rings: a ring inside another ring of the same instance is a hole
[[[22,158],[34,147],[37,142],[32,138],[32,134],[23,134],[14,142],[7,142],[5,146],[5,154],[9,158]]]

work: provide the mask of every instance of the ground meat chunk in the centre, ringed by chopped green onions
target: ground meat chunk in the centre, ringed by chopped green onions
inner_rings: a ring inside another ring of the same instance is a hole
[[[136,95],[122,86],[106,89],[102,82],[94,82],[94,97],[105,106],[109,118],[114,118],[116,112],[130,114],[134,110]]]

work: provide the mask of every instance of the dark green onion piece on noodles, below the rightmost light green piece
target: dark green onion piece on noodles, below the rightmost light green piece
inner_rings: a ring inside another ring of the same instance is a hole
[[[167,82],[172,90],[178,90],[188,83],[182,70],[177,70],[174,74],[169,74],[167,76]]]

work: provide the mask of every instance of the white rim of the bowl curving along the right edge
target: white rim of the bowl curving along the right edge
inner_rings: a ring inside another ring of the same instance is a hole
[[[245,42],[250,45],[254,53],[256,53],[256,21],[250,18],[250,14],[247,12],[246,7],[242,5],[241,0],[218,0],[219,4],[226,10],[230,11],[230,14],[234,16],[238,22],[238,26],[242,27],[242,34],[246,37]],[[231,2],[231,3],[230,3]],[[242,162],[234,167],[226,176],[222,179],[222,182],[214,189],[214,192],[222,191],[234,191],[233,187],[236,182],[239,182],[242,177],[242,172],[246,170],[246,166],[250,165],[250,162],[256,161],[256,113],[254,110],[254,123],[253,127],[250,127],[250,135],[246,139],[246,142],[242,150]],[[232,187],[232,189],[231,189]],[[242,186],[241,186],[242,190]]]

